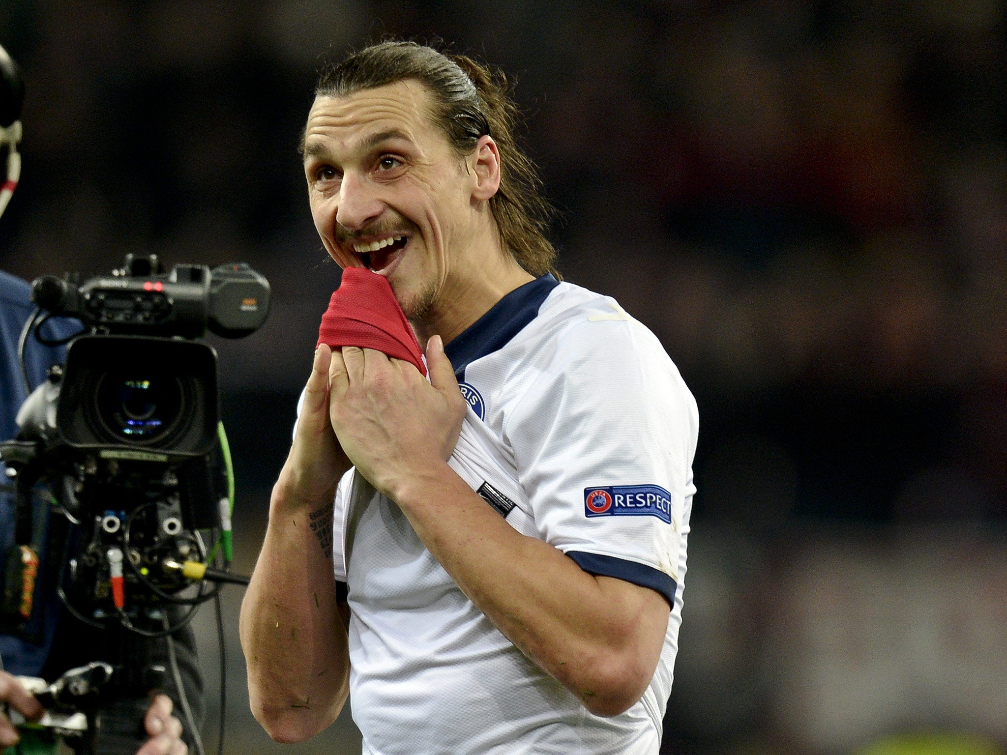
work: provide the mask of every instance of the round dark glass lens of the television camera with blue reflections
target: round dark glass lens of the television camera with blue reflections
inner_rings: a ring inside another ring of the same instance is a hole
[[[174,376],[107,373],[96,409],[110,440],[146,446],[174,435],[185,414],[185,392]]]

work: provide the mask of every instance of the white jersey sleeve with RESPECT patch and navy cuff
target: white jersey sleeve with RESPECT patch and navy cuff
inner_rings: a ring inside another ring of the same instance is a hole
[[[628,316],[572,325],[506,427],[539,537],[672,605],[698,431],[675,364]]]

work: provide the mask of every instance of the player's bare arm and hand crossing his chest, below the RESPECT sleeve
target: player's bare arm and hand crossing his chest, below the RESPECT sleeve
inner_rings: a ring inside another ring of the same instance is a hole
[[[668,601],[587,574],[487,506],[445,462],[464,404],[436,337],[427,361],[432,386],[377,351],[344,348],[332,359],[330,413],[342,447],[512,642],[592,713],[627,710],[657,667]]]

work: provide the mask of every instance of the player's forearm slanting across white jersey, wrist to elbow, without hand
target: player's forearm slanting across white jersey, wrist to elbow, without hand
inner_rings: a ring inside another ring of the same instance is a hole
[[[395,495],[469,599],[589,710],[611,715],[638,700],[667,628],[662,596],[594,577],[553,546],[521,535],[446,464]]]

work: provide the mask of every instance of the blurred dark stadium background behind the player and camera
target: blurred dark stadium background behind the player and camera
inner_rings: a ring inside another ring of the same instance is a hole
[[[996,0],[0,0],[27,88],[0,268],[156,252],[270,279],[266,326],[213,341],[249,571],[339,277],[296,151],[319,56],[396,34],[496,63],[560,269],[649,325],[699,403],[664,751],[999,753],[1005,20]],[[296,748],[258,729],[240,598],[228,751],[358,752],[345,716]]]

